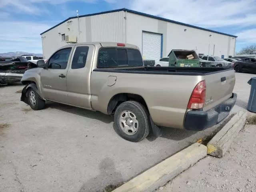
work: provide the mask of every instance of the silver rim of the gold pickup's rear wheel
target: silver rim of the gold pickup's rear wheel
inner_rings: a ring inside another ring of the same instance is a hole
[[[138,118],[129,110],[125,110],[121,113],[119,124],[125,134],[134,135],[138,131]]]

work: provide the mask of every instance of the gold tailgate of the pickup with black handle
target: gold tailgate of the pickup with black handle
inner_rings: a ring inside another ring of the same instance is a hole
[[[232,96],[235,85],[234,70],[224,70],[205,75],[206,98],[203,110],[207,111]]]

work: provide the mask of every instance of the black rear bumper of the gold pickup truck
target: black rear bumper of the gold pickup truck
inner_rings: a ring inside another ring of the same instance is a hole
[[[209,111],[189,111],[186,114],[184,128],[186,130],[202,131],[220,123],[226,118],[236,103],[237,94]]]

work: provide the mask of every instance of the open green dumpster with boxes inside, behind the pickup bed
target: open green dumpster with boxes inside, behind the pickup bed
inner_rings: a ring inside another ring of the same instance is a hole
[[[194,50],[172,50],[168,56],[169,66],[200,67],[200,58]]]

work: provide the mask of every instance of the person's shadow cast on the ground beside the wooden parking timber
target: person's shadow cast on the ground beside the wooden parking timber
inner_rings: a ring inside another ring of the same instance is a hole
[[[100,162],[98,176],[87,180],[78,192],[108,192],[120,186],[123,181],[122,174],[116,170],[114,161],[110,158],[104,158]]]

